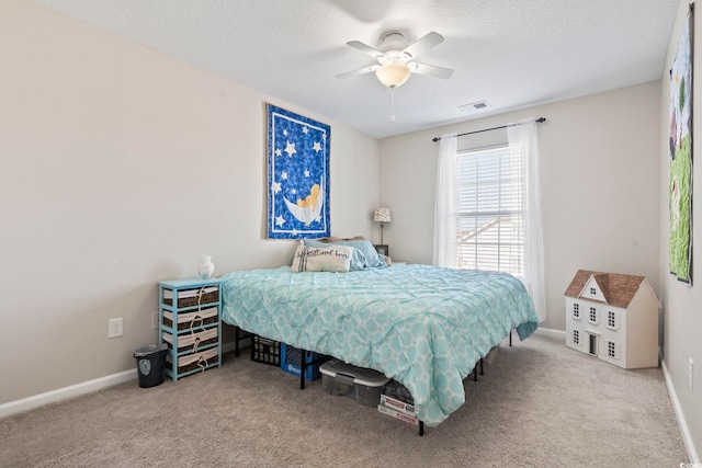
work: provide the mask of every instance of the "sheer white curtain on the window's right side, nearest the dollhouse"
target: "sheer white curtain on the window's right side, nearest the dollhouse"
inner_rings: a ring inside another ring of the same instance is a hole
[[[534,303],[539,321],[546,318],[544,285],[544,238],[541,222],[541,185],[539,183],[539,138],[534,118],[507,127],[510,152],[522,156],[522,213],[524,220],[524,286]]]

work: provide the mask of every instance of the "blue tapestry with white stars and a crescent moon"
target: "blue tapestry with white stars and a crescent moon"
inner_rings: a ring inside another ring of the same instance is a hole
[[[330,127],[268,104],[268,238],[328,237]]]

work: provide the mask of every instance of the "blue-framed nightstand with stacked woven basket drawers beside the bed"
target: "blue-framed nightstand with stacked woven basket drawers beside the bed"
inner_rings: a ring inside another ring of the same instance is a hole
[[[158,285],[158,339],[169,347],[166,375],[178,380],[220,366],[219,279],[170,279]]]

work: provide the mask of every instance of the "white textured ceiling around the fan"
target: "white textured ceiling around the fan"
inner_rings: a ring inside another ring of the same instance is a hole
[[[660,79],[679,0],[34,2],[382,138]],[[438,32],[418,61],[455,70],[412,75],[394,123],[373,73],[335,78],[374,64],[347,42],[388,31]]]

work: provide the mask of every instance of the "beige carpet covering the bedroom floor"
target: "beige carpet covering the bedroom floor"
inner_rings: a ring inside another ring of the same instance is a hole
[[[534,335],[503,344],[466,403],[416,427],[248,355],[0,420],[2,467],[673,467],[687,461],[659,368],[623,370]]]

